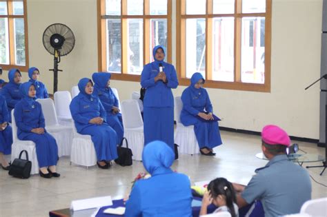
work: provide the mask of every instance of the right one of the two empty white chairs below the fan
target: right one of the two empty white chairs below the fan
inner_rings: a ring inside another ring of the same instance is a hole
[[[54,107],[56,108],[59,124],[72,126],[72,114],[70,114],[69,105],[72,96],[68,91],[57,91],[54,93]]]

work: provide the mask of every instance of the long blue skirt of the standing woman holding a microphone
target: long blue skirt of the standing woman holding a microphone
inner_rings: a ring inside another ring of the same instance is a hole
[[[144,145],[164,141],[174,150],[174,107],[144,107]]]

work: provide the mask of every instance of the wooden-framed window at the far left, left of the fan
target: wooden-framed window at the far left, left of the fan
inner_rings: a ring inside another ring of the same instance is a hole
[[[0,1],[0,66],[28,70],[26,0]]]

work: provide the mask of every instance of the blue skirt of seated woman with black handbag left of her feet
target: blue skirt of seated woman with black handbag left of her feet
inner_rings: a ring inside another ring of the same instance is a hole
[[[49,167],[57,165],[57,141],[50,134],[48,134],[47,132],[45,134],[28,133],[27,135],[23,136],[23,138],[19,139],[25,141],[33,141],[35,143],[39,167]]]

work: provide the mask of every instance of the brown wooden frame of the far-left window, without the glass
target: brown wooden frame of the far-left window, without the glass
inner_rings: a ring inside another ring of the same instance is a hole
[[[27,72],[29,68],[29,57],[28,57],[28,14],[27,14],[27,0],[23,1],[23,15],[14,15],[12,10],[12,3],[14,0],[3,0],[7,2],[7,15],[0,15],[0,18],[8,18],[8,40],[9,40],[9,64],[0,63],[0,67],[3,70],[10,70],[11,68],[17,68],[21,72]],[[16,65],[16,54],[14,48],[14,19],[23,18],[24,20],[24,34],[25,34],[25,65]]]

